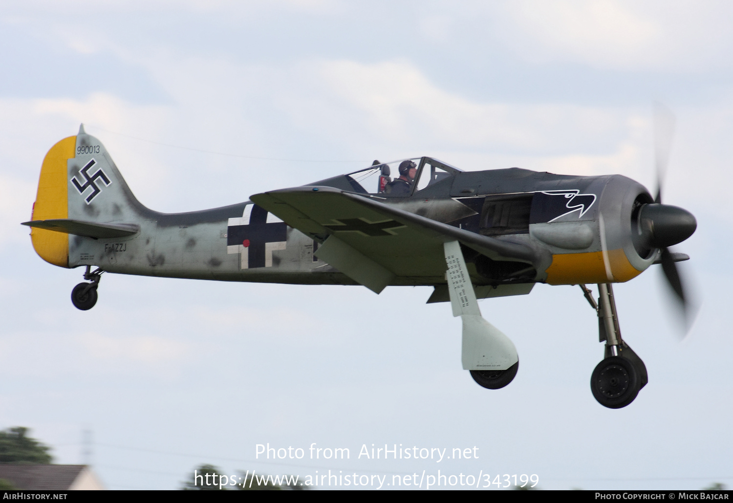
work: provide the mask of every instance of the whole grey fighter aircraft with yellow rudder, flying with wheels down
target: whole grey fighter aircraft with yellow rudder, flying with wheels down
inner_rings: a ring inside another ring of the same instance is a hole
[[[593,396],[621,408],[647,383],[647,369],[621,337],[611,284],[660,263],[684,305],[675,262],[689,257],[668,247],[692,235],[696,220],[621,175],[463,172],[431,157],[375,161],[223,208],[158,213],[138,202],[81,125],[45,156],[32,218],[23,225],[43,260],[85,268],[87,282],[71,293],[84,310],[95,305],[105,272],[353,284],[377,294],[391,285],[430,285],[427,302],[450,302],[462,318],[463,369],[487,389],[507,386],[519,358],[476,299],[526,295],[538,282],[578,284],[605,341]],[[597,301],[590,283],[598,285]]]

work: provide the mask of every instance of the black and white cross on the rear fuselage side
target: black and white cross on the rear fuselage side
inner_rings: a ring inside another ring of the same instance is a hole
[[[226,252],[239,253],[243,269],[272,267],[273,251],[284,250],[287,224],[268,222],[268,211],[247,205],[240,219],[229,219],[226,227]]]

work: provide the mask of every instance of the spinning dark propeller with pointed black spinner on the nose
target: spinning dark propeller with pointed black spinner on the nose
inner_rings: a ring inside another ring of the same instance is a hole
[[[646,249],[660,251],[655,263],[662,265],[664,277],[674,292],[674,298],[682,308],[685,328],[689,329],[693,320],[692,304],[689,294],[685,294],[682,279],[675,262],[688,257],[669,251],[669,246],[682,243],[695,232],[697,221],[688,210],[677,206],[662,204],[662,187],[669,164],[669,155],[674,137],[674,114],[661,103],[654,106],[654,145],[655,166],[657,169],[657,194],[653,204],[642,205],[638,211],[637,243]]]

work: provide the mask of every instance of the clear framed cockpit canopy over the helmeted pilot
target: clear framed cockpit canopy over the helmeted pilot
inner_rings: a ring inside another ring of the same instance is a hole
[[[399,165],[404,161],[413,161],[417,172],[413,180],[405,180],[405,183],[398,183]],[[358,192],[359,194],[380,194],[384,197],[409,197],[417,191],[432,185],[444,178],[451,177],[461,170],[446,164],[443,161],[430,157],[412,159],[400,159],[388,163],[374,161],[372,166],[359,169],[347,175],[328,178],[314,182],[311,185],[323,185],[341,188],[345,191]],[[407,190],[403,187],[407,186]],[[400,190],[393,190],[398,187]]]

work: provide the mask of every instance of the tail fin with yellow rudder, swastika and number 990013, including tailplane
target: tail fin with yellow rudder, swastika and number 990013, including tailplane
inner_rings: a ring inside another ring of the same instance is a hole
[[[133,196],[104,145],[79,128],[48,150],[38,181],[31,227],[36,253],[69,267],[69,234],[91,238],[132,235],[150,213]]]

